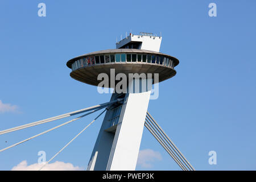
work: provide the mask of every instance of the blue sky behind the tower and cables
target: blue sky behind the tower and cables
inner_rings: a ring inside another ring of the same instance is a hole
[[[46,17],[38,4],[46,3]],[[217,17],[208,15],[209,3]],[[108,102],[95,86],[69,77],[72,57],[115,48],[130,30],[162,33],[160,52],[177,57],[177,75],[159,84],[148,111],[197,170],[256,169],[256,2],[251,1],[1,1],[0,130]],[[10,104],[8,107],[7,104]],[[13,106],[13,107],[12,107]],[[97,114],[0,154],[0,170],[47,160]],[[64,119],[63,119],[64,120]],[[68,119],[65,119],[67,121]],[[0,148],[56,121],[0,136]],[[56,161],[86,168],[102,117]],[[150,168],[179,170],[144,129],[141,150],[159,152]],[[208,152],[217,152],[209,165]]]

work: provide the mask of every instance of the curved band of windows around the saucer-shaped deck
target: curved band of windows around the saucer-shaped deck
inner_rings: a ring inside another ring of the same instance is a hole
[[[82,59],[76,60],[72,64],[72,71],[86,67],[87,65],[93,64],[105,64],[105,63],[121,63],[121,62],[144,62],[144,63],[155,63],[164,65],[166,67],[174,68],[172,60],[164,56],[156,55],[140,55],[131,53],[117,53],[113,55],[98,55],[98,56],[87,56]]]

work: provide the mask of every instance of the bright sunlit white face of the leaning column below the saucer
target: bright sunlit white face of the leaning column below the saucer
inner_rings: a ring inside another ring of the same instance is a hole
[[[130,93],[121,113],[107,170],[135,170],[150,93]]]

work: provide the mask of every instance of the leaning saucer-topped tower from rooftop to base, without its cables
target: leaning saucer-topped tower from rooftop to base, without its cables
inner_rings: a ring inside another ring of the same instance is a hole
[[[106,112],[87,170],[135,170],[143,127],[149,126],[145,119],[150,118],[147,107],[151,84],[175,76],[174,68],[179,64],[175,57],[159,52],[161,41],[161,36],[151,33],[130,33],[116,43],[116,49],[86,53],[67,62],[72,78],[94,86],[100,85],[102,80],[98,76],[102,73],[108,77],[114,74],[114,78],[119,74],[127,78],[131,74],[146,76],[126,79],[127,89],[122,92],[115,92],[117,80],[101,85],[114,88],[110,101],[122,101]],[[148,74],[156,75],[157,79]],[[146,89],[142,89],[143,82],[147,83]],[[134,88],[138,88],[137,91]]]

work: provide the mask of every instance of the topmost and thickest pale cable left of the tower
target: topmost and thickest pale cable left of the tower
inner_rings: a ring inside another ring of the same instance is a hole
[[[104,107],[106,107],[106,106],[108,106],[108,105],[110,105],[110,104],[114,104],[115,102],[119,102],[119,101],[122,101],[122,100],[123,100],[123,99],[119,99],[119,98],[118,98],[117,100],[110,101],[110,102],[105,102],[104,104],[95,105],[95,106],[91,106],[91,107],[86,107],[86,108],[84,108],[84,109],[72,111],[72,112],[70,112],[70,113],[61,114],[61,115],[57,115],[57,116],[55,116],[55,117],[51,117],[51,118],[47,118],[47,119],[42,119],[42,120],[40,120],[40,121],[28,123],[28,124],[26,124],[26,125],[20,125],[20,126],[13,127],[13,128],[11,128],[11,129],[2,130],[2,131],[0,131],[0,135],[6,134],[6,133],[10,133],[10,132],[13,132],[13,131],[17,131],[17,130],[26,129],[27,127],[31,127],[31,126],[41,125],[41,124],[43,124],[43,123],[55,121],[55,120],[57,120],[57,119],[70,117],[70,116],[72,116],[72,115],[84,113],[84,112],[86,112],[86,111],[90,111],[90,110],[93,110],[93,109],[104,108]]]

